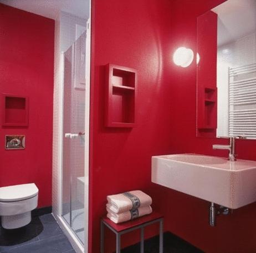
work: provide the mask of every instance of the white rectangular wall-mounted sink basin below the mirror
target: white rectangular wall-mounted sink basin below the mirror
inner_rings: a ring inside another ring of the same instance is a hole
[[[256,201],[256,161],[197,154],[152,156],[151,180],[236,209]]]

